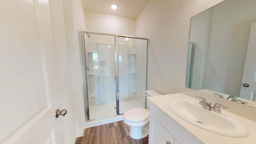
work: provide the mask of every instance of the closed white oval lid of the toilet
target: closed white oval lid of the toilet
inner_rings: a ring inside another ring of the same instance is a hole
[[[145,108],[133,108],[124,113],[124,118],[131,122],[140,122],[149,117]]]

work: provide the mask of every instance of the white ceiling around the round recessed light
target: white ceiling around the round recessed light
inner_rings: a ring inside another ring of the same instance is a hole
[[[149,0],[82,0],[82,3],[85,10],[137,18],[148,1]],[[111,9],[110,6],[112,4],[116,4],[118,8],[116,10]]]

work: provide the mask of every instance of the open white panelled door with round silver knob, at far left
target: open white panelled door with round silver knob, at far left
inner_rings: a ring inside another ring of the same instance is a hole
[[[0,143],[63,143],[48,0],[0,4]]]

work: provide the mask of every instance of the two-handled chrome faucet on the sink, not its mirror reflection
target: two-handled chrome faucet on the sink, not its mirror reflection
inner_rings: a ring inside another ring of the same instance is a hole
[[[212,106],[211,103],[206,102],[205,98],[202,98],[200,96],[196,96],[196,97],[201,99],[201,101],[199,102],[200,106],[202,106],[203,108],[206,108],[207,110],[211,110],[213,112],[221,113],[220,106],[222,106],[222,108],[225,108],[225,109],[228,108],[227,106],[219,104],[218,102],[216,102],[214,104],[214,106]]]

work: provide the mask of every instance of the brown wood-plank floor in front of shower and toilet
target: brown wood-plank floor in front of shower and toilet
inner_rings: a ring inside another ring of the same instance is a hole
[[[76,144],[148,144],[148,136],[134,140],[129,136],[130,126],[123,120],[86,128],[84,136],[76,139]]]

